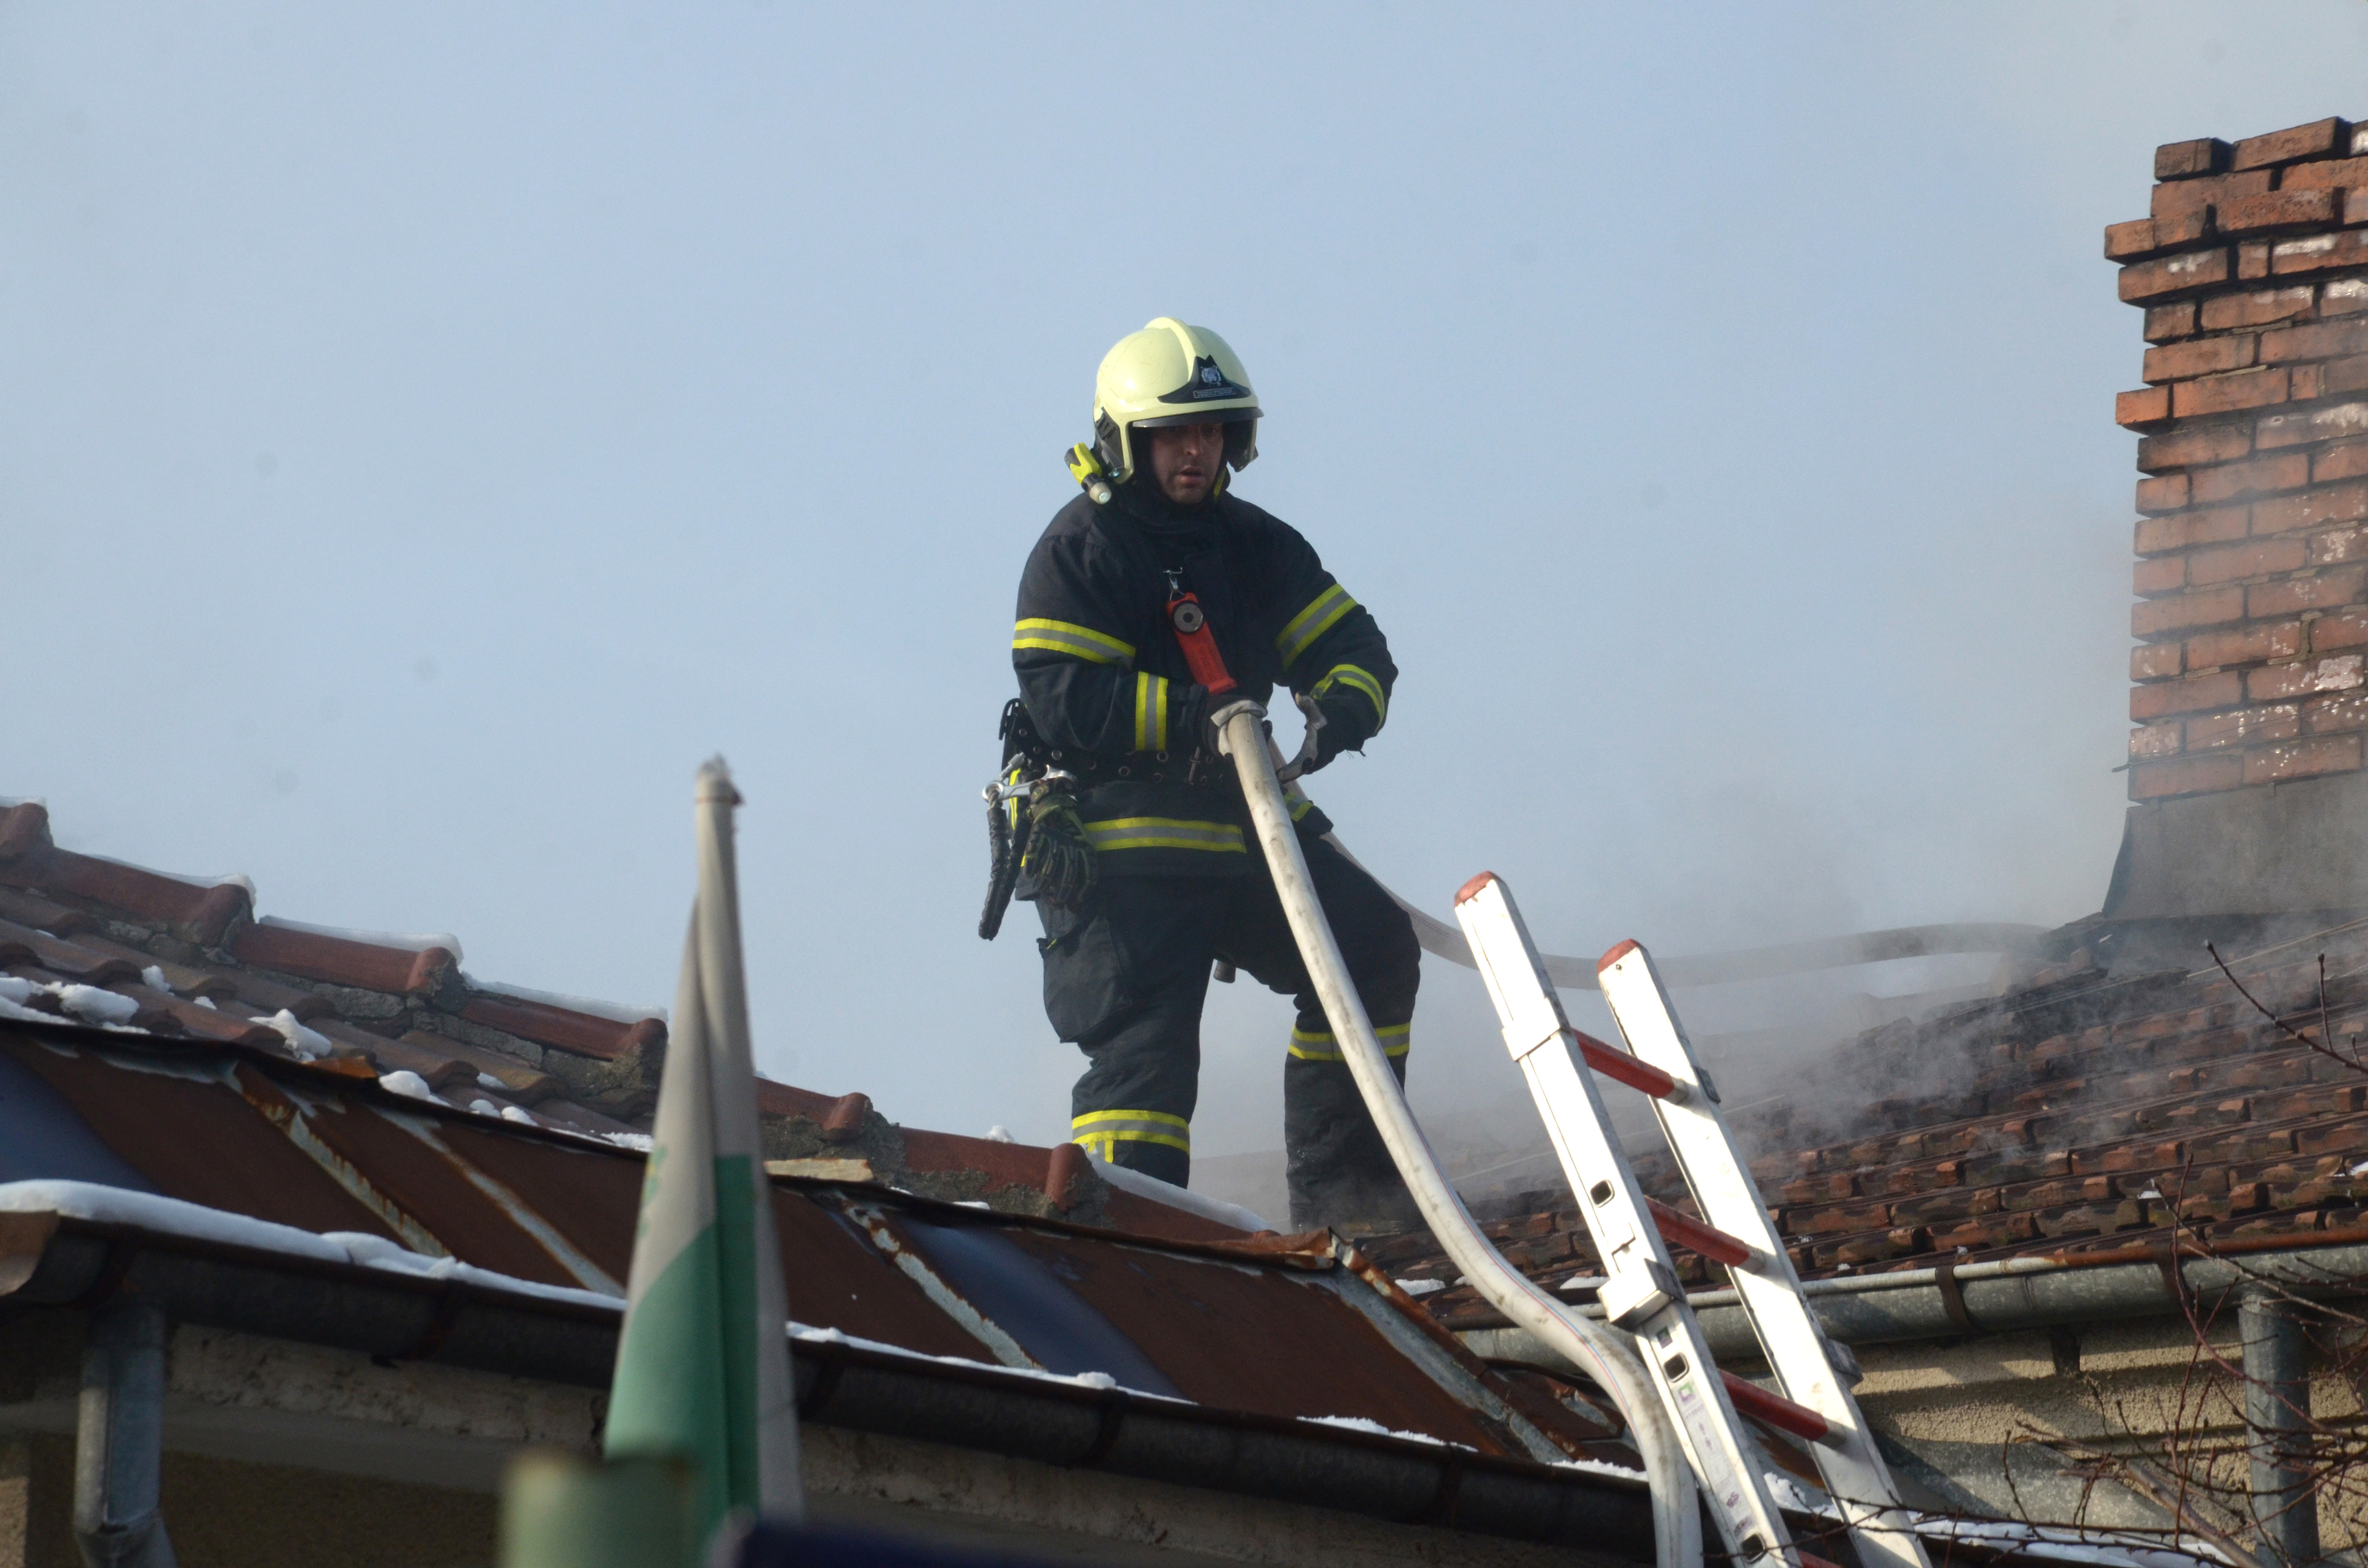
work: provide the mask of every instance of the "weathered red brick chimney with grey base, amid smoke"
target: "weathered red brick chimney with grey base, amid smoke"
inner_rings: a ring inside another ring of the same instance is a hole
[[[2368,910],[2368,126],[2155,152],[2129,824],[2105,914]]]

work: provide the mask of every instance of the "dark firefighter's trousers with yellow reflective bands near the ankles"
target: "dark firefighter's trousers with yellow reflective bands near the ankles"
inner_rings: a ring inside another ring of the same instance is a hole
[[[1331,843],[1300,846],[1350,981],[1404,1082],[1421,983],[1414,921]],[[1044,1014],[1087,1056],[1070,1094],[1070,1137],[1089,1153],[1177,1187],[1189,1182],[1201,1004],[1210,964],[1224,959],[1298,1004],[1283,1056],[1293,1229],[1414,1220],[1265,865],[1248,876],[1103,876],[1082,907],[1040,900],[1037,914]]]

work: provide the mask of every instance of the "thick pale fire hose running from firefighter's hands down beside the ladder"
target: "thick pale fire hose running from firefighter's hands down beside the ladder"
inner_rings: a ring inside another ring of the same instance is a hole
[[[1646,1381],[1636,1350],[1615,1329],[1579,1317],[1570,1303],[1556,1300],[1532,1284],[1480,1234],[1478,1220],[1463,1208],[1461,1194],[1440,1170],[1440,1158],[1407,1108],[1407,1094],[1397,1087],[1390,1059],[1373,1037],[1373,1021],[1364,1014],[1364,1000],[1347,978],[1340,945],[1333,940],[1324,905],[1317,902],[1314,883],[1307,876],[1307,855],[1300,850],[1298,829],[1283,805],[1283,786],[1274,772],[1274,751],[1265,730],[1267,711],[1253,701],[1236,701],[1210,715],[1217,730],[1217,748],[1234,758],[1241,775],[1241,793],[1250,803],[1250,822],[1257,827],[1257,843],[1267,853],[1267,869],[1274,874],[1274,891],[1283,900],[1283,917],[1300,943],[1300,957],[1324,1002],[1324,1018],[1331,1023],[1347,1071],[1357,1078],[1381,1142],[1388,1144],[1397,1172],[1407,1180],[1423,1222],[1437,1236],[1447,1255],[1454,1258],[1463,1277],[1508,1319],[1527,1329],[1544,1343],[1584,1367],[1589,1376],[1613,1397],[1629,1426],[1629,1440],[1643,1459],[1646,1483],[1653,1490],[1653,1554],[1658,1568],[1700,1568],[1703,1563],[1703,1514],[1693,1492],[1693,1469],[1677,1442],[1677,1428],[1662,1409],[1660,1395]]]

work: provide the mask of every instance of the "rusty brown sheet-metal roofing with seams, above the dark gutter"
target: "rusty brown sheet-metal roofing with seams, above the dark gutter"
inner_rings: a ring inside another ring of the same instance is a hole
[[[0,1023],[0,1180],[173,1199],[613,1298],[642,1156],[393,1094],[336,1061]],[[1499,1379],[1324,1232],[1122,1236],[791,1177],[774,1180],[774,1220],[810,1334],[1518,1464],[1620,1452],[1596,1412]],[[0,1284],[24,1277],[0,1267]]]

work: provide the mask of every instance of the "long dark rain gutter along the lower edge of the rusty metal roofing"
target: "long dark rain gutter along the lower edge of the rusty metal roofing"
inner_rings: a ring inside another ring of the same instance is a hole
[[[189,1322],[606,1388],[618,1312],[128,1225],[0,1215],[0,1310],[133,1298]],[[793,1341],[798,1414],[824,1426],[983,1450],[1402,1525],[1653,1561],[1643,1483],[1463,1447],[1080,1388],[992,1367]]]

